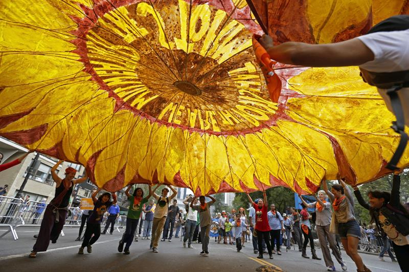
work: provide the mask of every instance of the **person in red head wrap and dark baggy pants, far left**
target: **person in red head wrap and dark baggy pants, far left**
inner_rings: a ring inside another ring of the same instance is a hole
[[[55,196],[50,204],[47,205],[46,211],[44,212],[40,232],[38,233],[37,240],[33,246],[33,251],[30,253],[30,258],[36,258],[37,252],[47,251],[50,240],[52,243],[57,241],[62,227],[65,224],[65,218],[67,217],[68,206],[74,185],[82,183],[88,178],[85,172],[84,177],[74,180],[77,170],[73,167],[67,167],[65,169],[65,177],[64,179],[61,179],[58,177],[56,170],[62,162],[63,160],[59,160],[57,164],[51,168],[51,175],[53,181],[56,183]]]

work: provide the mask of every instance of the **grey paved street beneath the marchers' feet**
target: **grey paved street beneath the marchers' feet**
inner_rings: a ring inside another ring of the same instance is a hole
[[[5,229],[0,229],[0,235]],[[33,235],[38,228],[23,227],[17,229],[19,239],[14,241],[11,234],[0,239],[0,271],[256,271],[261,265],[279,267],[282,271],[326,271],[324,261],[303,259],[301,253],[290,250],[282,256],[274,255],[274,260],[268,258],[259,261],[253,254],[251,243],[245,243],[242,252],[237,253],[234,245],[217,244],[214,238],[210,242],[209,257],[199,256],[200,244],[194,244],[193,249],[183,248],[180,238],[172,242],[161,242],[159,253],[149,251],[149,240],[134,242],[130,255],[118,253],[117,246],[121,233],[101,235],[93,245],[93,253],[77,255],[80,242],[74,241],[78,228],[65,228],[65,236],[56,244],[50,244],[49,251],[39,253],[36,259],[29,259],[28,254],[35,242]],[[307,250],[308,255],[309,249]],[[321,250],[317,250],[322,257]],[[399,271],[397,263],[392,263],[388,257],[385,262],[378,260],[376,255],[361,254],[364,262],[373,272]],[[265,256],[266,257],[266,256]],[[348,265],[348,271],[356,271],[352,260],[343,252],[343,258]],[[337,271],[342,271],[336,265]],[[277,269],[277,271],[280,271]]]

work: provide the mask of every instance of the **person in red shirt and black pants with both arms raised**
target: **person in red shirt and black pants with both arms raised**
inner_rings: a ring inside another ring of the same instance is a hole
[[[271,244],[270,244],[270,225],[268,224],[267,212],[268,212],[268,203],[267,203],[267,195],[265,191],[263,191],[263,200],[259,200],[256,204],[252,200],[252,197],[247,193],[247,197],[249,202],[252,204],[254,209],[256,210],[256,231],[257,231],[257,241],[258,241],[258,248],[259,248],[259,256],[258,259],[263,259],[263,245],[262,245],[262,237],[264,238],[265,244],[267,246],[268,255],[270,259],[272,259],[272,252],[271,252]]]

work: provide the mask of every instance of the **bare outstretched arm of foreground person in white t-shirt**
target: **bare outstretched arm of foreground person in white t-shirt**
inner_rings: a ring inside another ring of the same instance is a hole
[[[267,35],[259,40],[271,59],[309,67],[354,66],[374,60],[373,52],[359,39],[327,44],[284,42],[274,46]]]

